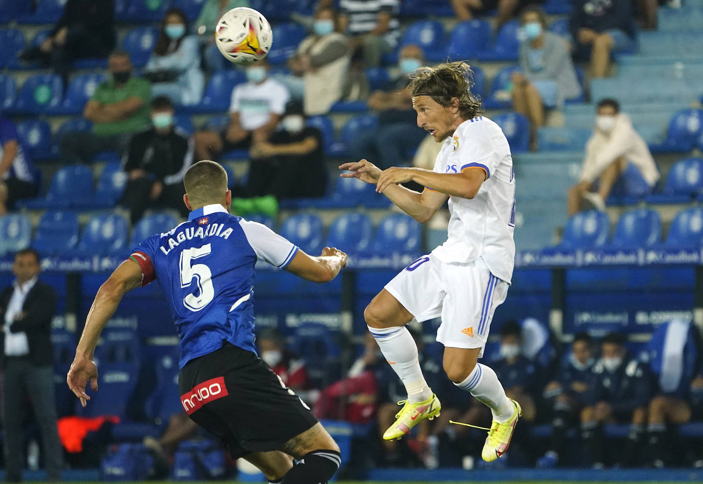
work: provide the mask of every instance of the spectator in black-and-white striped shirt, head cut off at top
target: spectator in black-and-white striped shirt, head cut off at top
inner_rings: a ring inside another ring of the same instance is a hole
[[[366,67],[381,64],[400,37],[399,0],[340,0],[340,31],[352,37],[352,51]]]

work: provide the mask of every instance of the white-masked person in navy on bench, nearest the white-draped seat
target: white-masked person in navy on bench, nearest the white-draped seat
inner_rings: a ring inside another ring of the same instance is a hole
[[[591,450],[596,469],[605,466],[602,426],[610,422],[631,424],[626,446],[617,455],[621,465],[634,463],[652,397],[650,371],[628,355],[623,334],[607,334],[600,348],[601,357],[593,367],[588,406],[581,411],[581,438]]]

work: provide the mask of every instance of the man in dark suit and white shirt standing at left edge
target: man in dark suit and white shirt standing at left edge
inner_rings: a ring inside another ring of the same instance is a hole
[[[44,440],[44,466],[49,480],[59,480],[61,444],[56,427],[53,396],[53,348],[51,319],[56,311],[56,293],[37,279],[39,254],[23,249],[15,254],[15,281],[0,293],[2,334],[2,416],[5,435],[5,476],[8,482],[22,480],[22,415],[25,392]]]

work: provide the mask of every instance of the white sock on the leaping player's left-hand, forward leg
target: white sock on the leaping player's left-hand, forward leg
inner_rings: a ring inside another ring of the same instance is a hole
[[[410,331],[405,326],[384,329],[368,326],[368,331],[376,338],[386,361],[403,381],[408,390],[408,402],[422,402],[430,398],[432,391],[420,369],[418,346]]]

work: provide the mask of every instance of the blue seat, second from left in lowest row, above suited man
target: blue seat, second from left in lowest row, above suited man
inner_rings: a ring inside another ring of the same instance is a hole
[[[78,243],[78,217],[74,212],[47,210],[39,219],[32,247],[41,255],[67,255]]]

